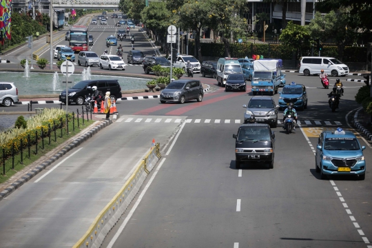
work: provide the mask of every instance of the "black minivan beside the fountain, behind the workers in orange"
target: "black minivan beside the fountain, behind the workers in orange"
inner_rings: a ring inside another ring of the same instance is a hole
[[[68,89],[68,103],[76,103],[77,105],[83,105],[85,96],[92,94],[90,90],[93,86],[97,86],[103,94],[110,92],[110,98],[112,101],[121,98],[121,87],[116,79],[94,79],[85,80],[76,83],[76,85]],[[66,103],[66,90],[63,90],[59,94],[59,101]]]

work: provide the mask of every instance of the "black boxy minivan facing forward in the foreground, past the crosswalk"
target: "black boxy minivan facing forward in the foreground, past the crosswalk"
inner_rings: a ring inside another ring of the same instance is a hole
[[[244,162],[268,162],[273,169],[275,134],[268,124],[242,124],[235,138],[235,167]]]

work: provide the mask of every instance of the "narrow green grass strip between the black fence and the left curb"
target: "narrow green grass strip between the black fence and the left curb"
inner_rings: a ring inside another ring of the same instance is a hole
[[[82,125],[82,121],[80,119],[80,127],[77,127],[77,123],[75,121],[75,130],[72,130],[72,122],[69,123],[69,133],[67,134],[65,127],[62,128],[63,136],[61,138],[61,130],[56,130],[56,141],[54,139],[54,132],[50,134],[50,145],[49,145],[49,138],[44,138],[44,149],[43,149],[43,143],[41,141],[41,138],[39,138],[39,141],[36,145],[32,145],[30,147],[30,157],[28,156],[28,148],[25,148],[23,150],[23,164],[21,163],[21,153],[14,155],[14,162],[12,157],[8,158],[5,161],[5,175],[4,175],[4,167],[3,167],[3,161],[0,161],[0,183],[5,183],[10,177],[12,177],[17,172],[21,171],[28,165],[34,163],[34,161],[37,161],[39,158],[50,152],[55,147],[58,147],[65,141],[67,141],[69,138],[74,136],[75,134],[79,134],[81,130],[85,129],[85,127],[88,127],[90,124],[94,123],[94,121],[90,120],[84,121],[84,125]],[[37,154],[36,154],[37,151]],[[14,163],[14,169],[13,168]]]

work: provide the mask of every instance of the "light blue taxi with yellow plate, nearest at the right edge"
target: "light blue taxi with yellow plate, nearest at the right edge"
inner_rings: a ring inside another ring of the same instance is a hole
[[[366,161],[358,138],[350,131],[338,127],[335,131],[323,131],[316,146],[316,172],[320,178],[327,175],[358,175],[359,180],[366,176]]]

